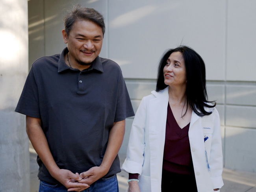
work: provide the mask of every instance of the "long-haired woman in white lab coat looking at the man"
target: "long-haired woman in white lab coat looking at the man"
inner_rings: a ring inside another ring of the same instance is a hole
[[[167,50],[156,91],[142,99],[132,124],[122,165],[129,192],[219,191],[223,156],[215,105],[207,100],[200,55],[187,46]]]

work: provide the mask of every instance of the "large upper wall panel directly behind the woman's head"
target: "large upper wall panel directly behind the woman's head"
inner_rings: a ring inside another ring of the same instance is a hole
[[[224,79],[225,1],[108,2],[109,58],[125,78],[156,78],[163,52],[185,44],[206,62],[208,79]]]

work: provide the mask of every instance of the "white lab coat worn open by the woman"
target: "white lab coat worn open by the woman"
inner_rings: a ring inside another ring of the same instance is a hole
[[[127,156],[122,165],[122,170],[139,174],[141,192],[161,192],[168,87],[151,93],[139,105],[132,124]],[[219,113],[213,109],[212,114],[204,117],[192,112],[189,126],[189,143],[198,192],[213,192],[214,188],[223,186],[220,120]],[[205,143],[204,137],[208,137]]]

